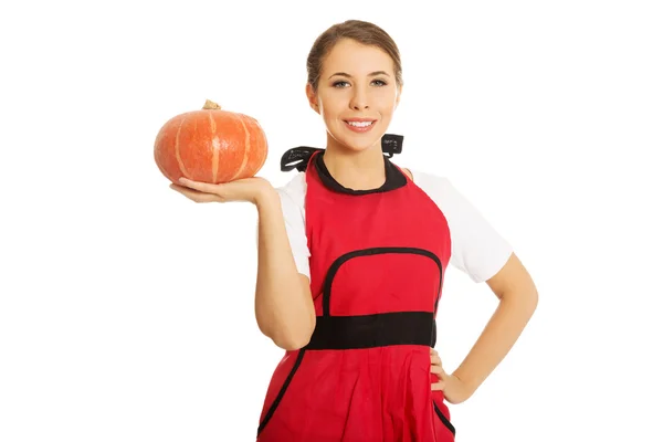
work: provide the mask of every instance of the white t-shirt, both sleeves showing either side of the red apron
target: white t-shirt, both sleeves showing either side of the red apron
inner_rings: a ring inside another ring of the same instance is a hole
[[[440,208],[451,233],[451,265],[474,282],[485,282],[506,263],[513,249],[448,178],[410,170],[413,181]],[[305,224],[306,173],[276,188],[297,271],[311,278]]]

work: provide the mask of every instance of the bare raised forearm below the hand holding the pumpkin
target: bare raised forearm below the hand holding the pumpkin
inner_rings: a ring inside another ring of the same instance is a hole
[[[309,281],[297,272],[281,199],[273,189],[256,199],[259,213],[255,318],[260,330],[286,350],[304,347],[315,328]]]

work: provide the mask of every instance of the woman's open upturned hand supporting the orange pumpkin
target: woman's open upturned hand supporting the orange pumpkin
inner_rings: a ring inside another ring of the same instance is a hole
[[[170,188],[196,202],[230,202],[245,201],[257,204],[257,201],[275,192],[274,188],[264,178],[243,178],[221,185],[192,181],[187,178],[179,179],[180,185],[170,185]]]

